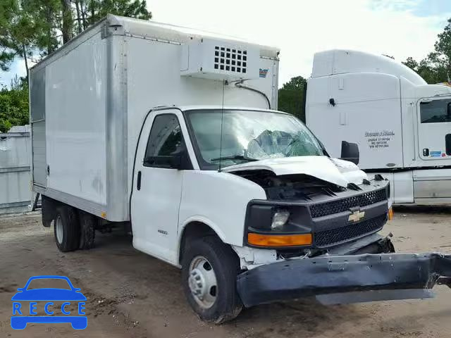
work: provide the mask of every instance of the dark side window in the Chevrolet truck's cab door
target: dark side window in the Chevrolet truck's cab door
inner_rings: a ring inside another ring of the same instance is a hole
[[[177,116],[157,115],[147,141],[144,166],[177,168],[175,158],[180,154],[186,154],[186,148]]]

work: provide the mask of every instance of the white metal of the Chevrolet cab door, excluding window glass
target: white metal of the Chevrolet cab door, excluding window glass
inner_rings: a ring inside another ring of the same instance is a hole
[[[178,120],[183,138],[188,141],[187,146],[190,147],[182,113],[178,109],[166,109],[160,113],[172,114]],[[142,173],[142,177],[140,189],[134,189],[130,205],[133,220],[133,246],[150,255],[178,264],[176,261],[178,210],[185,173],[190,170],[155,168],[143,165],[154,120],[155,115],[149,115],[147,118],[137,151],[135,177],[137,177],[138,172]],[[163,140],[161,143],[164,142],[166,141]],[[152,208],[149,208],[149,206],[152,206]]]

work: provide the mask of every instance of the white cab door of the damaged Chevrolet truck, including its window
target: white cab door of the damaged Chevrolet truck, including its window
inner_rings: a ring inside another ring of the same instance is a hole
[[[192,168],[183,121],[175,109],[147,116],[138,141],[130,206],[133,246],[170,263],[177,256],[183,169]]]

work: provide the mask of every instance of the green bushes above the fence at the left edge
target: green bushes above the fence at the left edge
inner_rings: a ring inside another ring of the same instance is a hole
[[[11,89],[0,89],[0,132],[8,132],[13,125],[28,123],[28,87],[24,78],[16,77]]]

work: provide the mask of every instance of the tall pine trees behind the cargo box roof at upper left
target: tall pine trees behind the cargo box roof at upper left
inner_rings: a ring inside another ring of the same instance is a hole
[[[0,69],[46,56],[107,13],[149,20],[145,0],[1,0]]]

